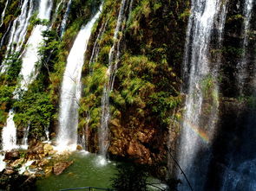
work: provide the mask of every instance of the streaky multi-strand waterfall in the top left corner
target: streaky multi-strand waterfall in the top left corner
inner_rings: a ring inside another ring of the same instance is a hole
[[[24,0],[21,7],[21,14],[16,17],[10,29],[9,42],[7,45],[6,53],[4,55],[5,59],[7,59],[10,54],[21,51],[23,47],[23,42],[25,41],[25,36],[30,23],[30,17],[32,16],[32,12],[33,1]],[[1,73],[4,73],[7,67],[8,66],[3,60],[3,64],[1,66]]]

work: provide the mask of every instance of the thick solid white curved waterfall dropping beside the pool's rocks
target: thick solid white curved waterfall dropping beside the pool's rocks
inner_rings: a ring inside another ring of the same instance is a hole
[[[77,143],[78,107],[82,91],[82,66],[91,30],[100,11],[83,26],[70,50],[62,80],[57,150],[75,150]]]

